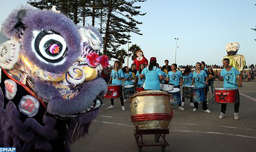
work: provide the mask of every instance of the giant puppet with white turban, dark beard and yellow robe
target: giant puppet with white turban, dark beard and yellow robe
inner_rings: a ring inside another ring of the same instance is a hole
[[[237,51],[239,50],[239,43],[234,42],[234,43],[229,43],[226,46],[226,51],[228,55],[223,57],[223,59],[228,58],[230,60],[230,66],[235,67],[238,71],[242,71],[245,66],[245,59],[244,56],[241,54],[236,54]],[[222,60],[223,62],[223,60]]]

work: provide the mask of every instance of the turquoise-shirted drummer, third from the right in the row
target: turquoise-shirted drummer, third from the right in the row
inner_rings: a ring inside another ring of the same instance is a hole
[[[192,83],[192,79],[193,79],[193,74],[191,73],[191,69],[189,67],[186,67],[184,72],[182,73],[182,78],[183,78],[183,85],[191,85]],[[183,86],[184,87],[184,86]],[[182,96],[182,102],[181,105],[184,106],[185,105],[185,98]],[[192,98],[189,98],[190,100],[190,106],[194,107],[194,103]]]

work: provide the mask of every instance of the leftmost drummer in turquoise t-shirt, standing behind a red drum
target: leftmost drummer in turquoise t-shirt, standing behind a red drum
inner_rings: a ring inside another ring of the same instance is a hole
[[[114,69],[112,69],[112,71],[111,71],[109,84],[120,85],[120,87],[121,87],[122,79],[123,79],[124,76],[123,76],[123,71],[120,68],[121,68],[121,63],[119,61],[115,61]],[[114,99],[110,99],[110,100],[111,100],[111,105],[109,106],[109,109],[113,109],[113,108],[115,108]],[[124,104],[123,104],[122,93],[121,93],[120,101],[121,101],[122,110],[125,110],[125,108],[123,106]]]

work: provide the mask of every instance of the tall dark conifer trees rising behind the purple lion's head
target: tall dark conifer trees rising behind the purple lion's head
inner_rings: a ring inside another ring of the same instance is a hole
[[[133,45],[129,54],[121,45],[131,43],[130,33],[142,35],[137,25],[142,24],[135,19],[146,13],[137,6],[146,0],[28,0],[27,3],[39,9],[51,9],[56,6],[67,13],[75,24],[90,25],[99,29],[103,35],[103,52],[109,58],[118,59],[124,63],[126,56],[136,57],[135,52],[140,47]]]

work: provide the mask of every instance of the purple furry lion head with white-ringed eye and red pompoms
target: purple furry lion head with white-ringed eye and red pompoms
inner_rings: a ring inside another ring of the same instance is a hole
[[[11,40],[0,45],[0,66],[48,102],[49,113],[73,117],[101,105],[98,96],[107,85],[98,73],[108,57],[97,54],[102,37],[94,27],[78,27],[52,10],[26,8],[14,11],[3,29]]]

